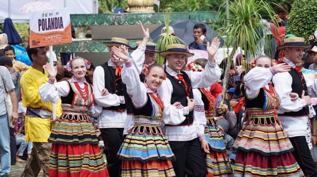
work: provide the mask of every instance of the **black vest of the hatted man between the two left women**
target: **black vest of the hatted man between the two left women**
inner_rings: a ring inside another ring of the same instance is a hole
[[[118,112],[124,112],[127,109],[127,113],[133,113],[132,101],[127,94],[127,88],[122,82],[121,75],[116,76],[116,70],[111,66],[108,66],[108,62],[105,62],[100,66],[104,71],[104,88],[107,88],[111,94],[124,96],[125,99],[125,104],[120,103],[118,106],[103,107],[103,109]]]

